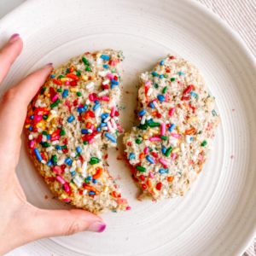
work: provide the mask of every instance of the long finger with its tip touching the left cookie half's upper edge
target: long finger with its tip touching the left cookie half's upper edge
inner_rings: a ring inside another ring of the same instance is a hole
[[[3,95],[0,104],[0,139],[9,143],[20,139],[26,108],[52,71],[52,64],[38,69],[22,79]]]

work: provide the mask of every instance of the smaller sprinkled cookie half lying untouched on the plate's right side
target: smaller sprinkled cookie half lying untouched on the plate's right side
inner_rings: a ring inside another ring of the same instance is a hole
[[[198,68],[177,56],[139,77],[140,124],[123,139],[139,200],[183,196],[202,171],[220,117]]]

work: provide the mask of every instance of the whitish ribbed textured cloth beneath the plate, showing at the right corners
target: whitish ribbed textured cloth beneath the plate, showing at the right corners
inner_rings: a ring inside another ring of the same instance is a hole
[[[197,0],[238,32],[256,56],[256,0]],[[255,235],[256,236],[256,235]],[[243,256],[256,256],[256,238]]]

